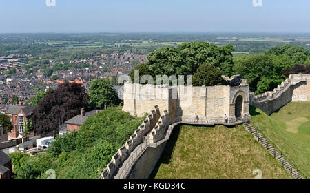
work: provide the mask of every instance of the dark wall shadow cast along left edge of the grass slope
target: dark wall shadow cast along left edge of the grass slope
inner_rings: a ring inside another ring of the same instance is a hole
[[[176,141],[178,140],[179,134],[180,134],[180,125],[176,125],[176,127],[172,131],[169,141],[167,142],[163,154],[161,154],[161,158],[156,163],[153,172],[149,175],[149,179],[155,179],[155,176],[162,163],[164,164],[170,163],[170,160],[172,159],[172,152],[174,151],[174,146],[176,145]]]

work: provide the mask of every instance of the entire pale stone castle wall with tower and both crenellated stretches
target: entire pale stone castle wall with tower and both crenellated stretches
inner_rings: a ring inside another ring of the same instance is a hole
[[[148,179],[160,158],[175,125],[198,116],[206,119],[229,116],[236,121],[236,99],[242,96],[242,116],[249,119],[249,103],[273,112],[289,101],[310,101],[310,76],[293,74],[273,92],[255,96],[245,80],[238,86],[167,87],[124,84],[123,110],[143,116],[141,126],[112,157],[101,179]],[[268,113],[267,113],[268,114]]]

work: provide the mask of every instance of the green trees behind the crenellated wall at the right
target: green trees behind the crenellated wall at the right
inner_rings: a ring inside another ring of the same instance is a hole
[[[285,77],[295,72],[307,72],[298,65],[309,65],[310,52],[302,47],[284,45],[271,48],[265,54],[239,55],[234,58],[234,74],[247,79],[251,92],[261,94],[273,90]]]

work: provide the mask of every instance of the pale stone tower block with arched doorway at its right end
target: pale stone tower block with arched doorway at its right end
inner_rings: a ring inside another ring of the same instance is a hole
[[[247,121],[249,114],[249,85],[241,79],[238,85],[217,86],[167,86],[125,83],[123,91],[123,111],[132,116],[144,116],[155,105],[167,110],[172,117],[183,121],[194,121],[195,113],[199,121],[205,123],[228,123],[240,119]]]

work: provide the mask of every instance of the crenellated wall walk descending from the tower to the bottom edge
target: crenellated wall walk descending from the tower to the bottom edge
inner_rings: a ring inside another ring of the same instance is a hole
[[[166,143],[154,144],[165,137],[169,121],[174,119],[167,110],[163,111],[163,114],[158,112],[159,108],[156,106],[125,145],[112,156],[100,179],[147,179],[149,177]]]

